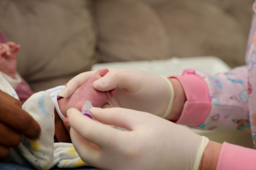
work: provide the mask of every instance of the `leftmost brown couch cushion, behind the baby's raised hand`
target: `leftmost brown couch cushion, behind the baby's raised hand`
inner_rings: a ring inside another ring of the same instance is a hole
[[[18,71],[35,91],[64,84],[95,63],[89,0],[1,0],[0,28],[21,44]]]

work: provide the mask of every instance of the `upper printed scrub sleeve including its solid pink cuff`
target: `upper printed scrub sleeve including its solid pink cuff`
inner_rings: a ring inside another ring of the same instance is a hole
[[[176,123],[204,130],[249,128],[246,66],[209,75],[185,70],[177,78],[187,101]]]

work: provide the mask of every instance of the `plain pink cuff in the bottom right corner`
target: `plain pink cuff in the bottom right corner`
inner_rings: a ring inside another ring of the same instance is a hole
[[[255,170],[256,150],[224,142],[218,158],[217,170]]]

